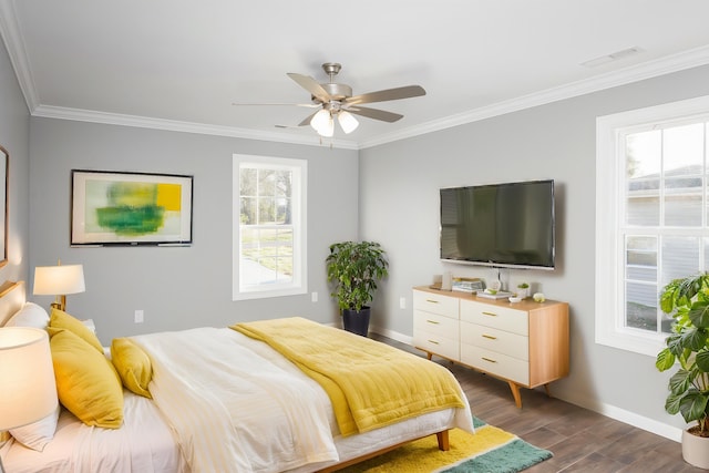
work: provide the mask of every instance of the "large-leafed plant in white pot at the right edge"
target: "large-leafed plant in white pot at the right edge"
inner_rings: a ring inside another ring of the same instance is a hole
[[[682,456],[709,469],[709,274],[669,282],[660,295],[660,308],[674,323],[655,366],[666,371],[679,363],[669,380],[665,410],[696,422],[682,432]]]

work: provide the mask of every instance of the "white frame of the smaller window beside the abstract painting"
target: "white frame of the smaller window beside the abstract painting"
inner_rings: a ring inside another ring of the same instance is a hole
[[[292,281],[261,287],[242,285],[240,275],[240,189],[239,172],[242,165],[265,168],[287,168],[294,174],[292,187]],[[269,297],[296,296],[308,292],[308,255],[307,255],[307,208],[308,208],[308,162],[305,160],[282,158],[234,154],[232,161],[232,300],[261,299]]]

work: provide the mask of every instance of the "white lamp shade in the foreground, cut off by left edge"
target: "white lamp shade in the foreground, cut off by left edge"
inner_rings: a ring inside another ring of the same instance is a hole
[[[37,422],[56,409],[47,331],[0,328],[0,430]]]

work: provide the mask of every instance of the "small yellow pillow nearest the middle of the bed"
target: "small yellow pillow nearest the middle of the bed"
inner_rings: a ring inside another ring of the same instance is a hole
[[[153,364],[147,353],[127,338],[115,338],[111,342],[111,361],[123,385],[136,394],[153,399],[147,384],[153,379]]]

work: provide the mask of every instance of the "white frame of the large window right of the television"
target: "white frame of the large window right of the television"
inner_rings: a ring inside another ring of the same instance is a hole
[[[625,136],[648,126],[707,120],[709,96],[596,119],[596,343],[656,357],[660,333],[625,327],[624,212]]]

